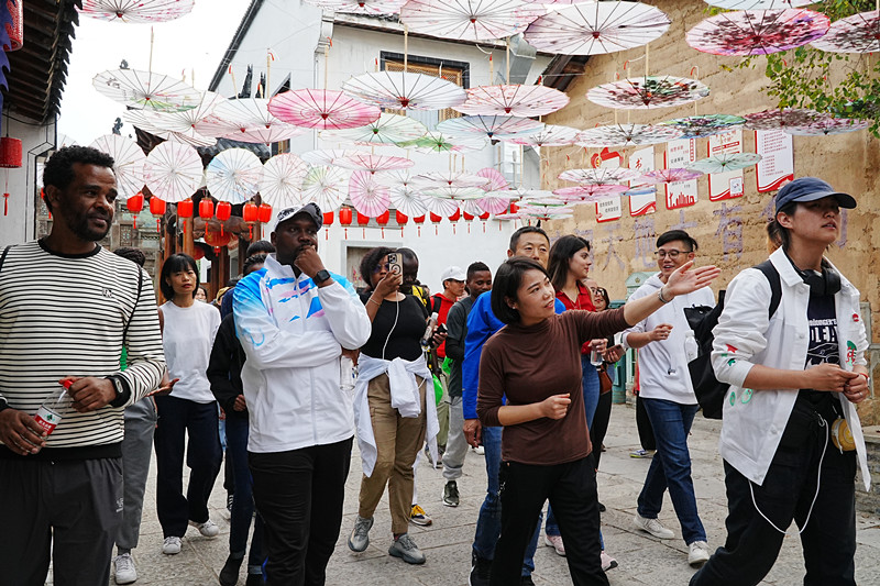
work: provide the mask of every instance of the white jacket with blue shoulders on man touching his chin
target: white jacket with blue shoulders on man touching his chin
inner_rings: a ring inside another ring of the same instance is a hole
[[[235,333],[248,356],[241,379],[251,452],[330,444],[354,433],[339,358],[343,347],[364,345],[372,325],[351,284],[332,277],[319,288],[270,256],[233,289]]]

